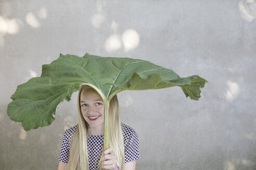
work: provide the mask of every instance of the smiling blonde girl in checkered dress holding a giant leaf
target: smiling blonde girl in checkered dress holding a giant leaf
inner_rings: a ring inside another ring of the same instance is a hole
[[[135,169],[140,158],[138,136],[131,127],[120,123],[117,96],[110,101],[110,148],[104,152],[104,102],[91,87],[82,85],[79,90],[78,118],[79,124],[63,134],[59,170]]]

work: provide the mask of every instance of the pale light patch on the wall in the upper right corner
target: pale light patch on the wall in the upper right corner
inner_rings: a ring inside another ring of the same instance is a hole
[[[242,0],[238,3],[239,11],[241,12],[241,17],[252,22],[256,19],[256,2],[255,0]]]

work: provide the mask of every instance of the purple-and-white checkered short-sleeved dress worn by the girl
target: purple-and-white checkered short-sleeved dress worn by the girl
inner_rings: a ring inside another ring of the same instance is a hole
[[[76,129],[75,125],[66,130],[63,134],[62,146],[59,153],[59,161],[68,163],[69,160],[69,147],[70,141]],[[131,162],[140,158],[138,147],[138,135],[129,126],[121,124],[123,137],[124,137],[124,163]],[[102,154],[102,146],[104,143],[103,135],[88,136],[87,149],[89,169],[94,170],[99,168],[99,160]]]

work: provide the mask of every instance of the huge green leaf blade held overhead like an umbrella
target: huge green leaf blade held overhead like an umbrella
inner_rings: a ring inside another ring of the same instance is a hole
[[[104,58],[85,54],[62,55],[43,65],[41,77],[17,87],[7,109],[11,120],[22,122],[24,130],[36,129],[53,122],[58,105],[70,101],[82,83],[92,86],[109,102],[123,90],[148,90],[180,86],[186,97],[200,98],[200,88],[207,81],[195,75],[180,78],[171,69],[144,60]]]

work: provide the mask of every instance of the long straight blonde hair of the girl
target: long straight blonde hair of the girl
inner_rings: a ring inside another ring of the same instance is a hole
[[[88,86],[82,85],[78,93],[78,119],[79,124],[76,127],[74,135],[70,143],[70,155],[68,161],[68,169],[70,170],[89,170],[88,167],[88,152],[87,152],[87,138],[89,125],[84,120],[81,106],[80,96],[83,88]],[[91,87],[89,87],[91,88]],[[119,118],[119,106],[117,96],[113,96],[109,104],[109,147],[117,156],[117,164],[122,169],[124,164],[124,142],[122,128]],[[101,159],[99,161],[99,169],[101,166]],[[95,167],[96,168],[96,167]]]

